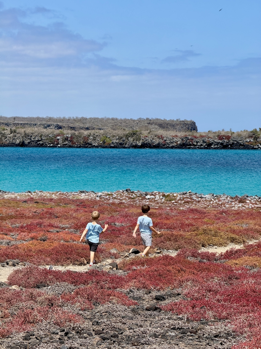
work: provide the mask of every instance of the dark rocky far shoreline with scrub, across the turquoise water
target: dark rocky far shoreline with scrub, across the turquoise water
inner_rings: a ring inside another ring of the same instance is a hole
[[[124,136],[100,134],[7,134],[0,132],[0,147],[61,148],[163,148],[163,149],[261,149],[261,137],[244,138],[230,135],[163,136],[141,135],[131,131]]]

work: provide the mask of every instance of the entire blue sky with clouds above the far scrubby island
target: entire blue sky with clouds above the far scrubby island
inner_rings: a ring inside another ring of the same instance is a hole
[[[3,1],[0,114],[261,127],[260,10],[259,0]]]

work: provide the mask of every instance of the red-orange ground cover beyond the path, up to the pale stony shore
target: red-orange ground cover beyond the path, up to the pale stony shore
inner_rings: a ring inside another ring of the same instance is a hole
[[[98,248],[98,258],[109,257],[108,251],[113,247],[120,252],[142,248],[140,239],[132,236],[141,215],[140,207],[68,198],[38,200],[38,203],[33,198],[26,203],[0,200],[0,241],[27,241],[0,246],[0,261],[13,259],[14,255],[36,265],[75,264],[82,257],[88,259],[88,247],[78,242],[94,209],[100,211],[101,223],[109,224],[109,229],[101,235],[106,244],[102,245],[103,249]],[[230,242],[258,239],[261,235],[260,213],[254,210],[152,208],[150,216],[154,227],[162,232],[154,237],[153,244],[166,250],[198,249],[209,244],[226,246]]]

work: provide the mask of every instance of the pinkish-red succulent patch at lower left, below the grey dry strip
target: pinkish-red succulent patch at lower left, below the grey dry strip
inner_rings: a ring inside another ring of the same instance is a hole
[[[60,327],[82,322],[82,317],[62,309],[68,303],[80,310],[87,310],[93,309],[95,303],[108,302],[126,306],[137,304],[120,292],[100,289],[96,284],[78,288],[73,294],[62,294],[61,297],[47,295],[32,288],[24,291],[5,288],[0,294],[0,337],[27,331],[31,326],[47,320]],[[12,316],[14,311],[16,314]]]

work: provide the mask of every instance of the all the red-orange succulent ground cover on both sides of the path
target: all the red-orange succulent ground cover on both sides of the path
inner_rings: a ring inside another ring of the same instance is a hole
[[[34,203],[33,199],[26,203],[1,200],[0,240],[26,242],[0,246],[0,261],[20,259],[39,266],[77,264],[82,257],[88,260],[88,246],[78,242],[94,209],[100,211],[102,225],[109,224],[109,229],[101,236],[103,244],[98,247],[97,261],[108,258],[113,247],[124,252],[140,245],[139,237],[132,237],[137,217],[141,215],[140,207],[135,205],[112,203],[109,206],[92,200],[68,198],[48,199],[48,202],[43,198],[39,203]],[[0,335],[24,331],[45,320],[59,326],[81,321],[78,315],[64,310],[64,304],[77,306],[79,310],[92,309],[95,303],[103,302],[126,306],[135,304],[117,289],[181,287],[188,300],[169,303],[163,307],[164,310],[186,314],[194,320],[230,320],[234,331],[247,338],[234,349],[260,348],[261,272],[253,267],[261,266],[261,243],[220,255],[198,252],[200,247],[209,244],[225,246],[230,242],[259,239],[260,212],[159,208],[151,209],[150,216],[154,227],[162,232],[161,236],[154,237],[153,246],[179,249],[175,258],[164,255],[122,260],[119,268],[128,272],[125,276],[97,270],[61,272],[36,266],[15,269],[9,276],[9,284],[23,286],[26,290],[3,289],[1,292],[3,326]],[[63,294],[59,299],[33,289],[40,283],[52,285],[57,282],[80,287],[73,294]],[[15,315],[11,316],[13,313]]]

